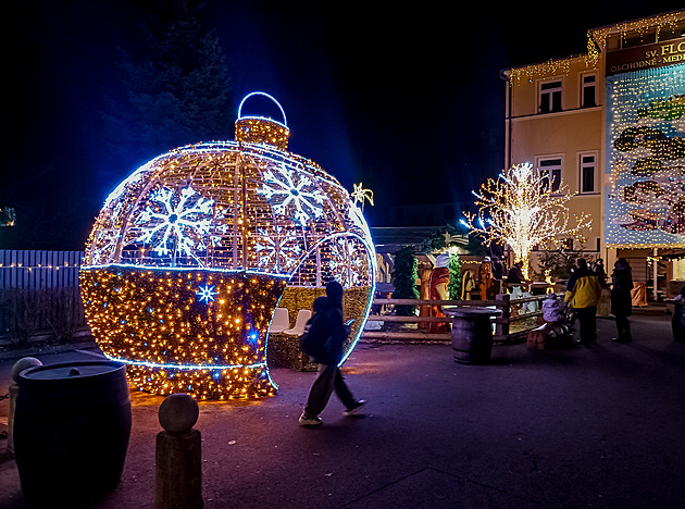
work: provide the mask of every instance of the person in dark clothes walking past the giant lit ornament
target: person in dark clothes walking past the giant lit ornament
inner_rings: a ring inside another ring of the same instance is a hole
[[[338,364],[342,360],[342,345],[350,333],[342,318],[342,286],[337,281],[326,284],[326,297],[324,309],[320,310],[323,322],[322,328],[329,337],[329,348],[314,360],[319,364],[319,375],[309,392],[309,398],[304,411],[300,415],[299,424],[302,426],[317,426],[321,424],[319,414],[326,408],[331,394],[335,394],[345,405],[346,415],[359,414],[364,400],[357,400],[348,388]]]

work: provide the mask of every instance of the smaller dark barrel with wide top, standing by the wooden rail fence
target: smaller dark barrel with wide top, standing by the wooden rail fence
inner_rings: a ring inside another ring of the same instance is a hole
[[[493,323],[501,311],[488,308],[446,308],[452,316],[452,352],[462,364],[487,364],[493,355]]]

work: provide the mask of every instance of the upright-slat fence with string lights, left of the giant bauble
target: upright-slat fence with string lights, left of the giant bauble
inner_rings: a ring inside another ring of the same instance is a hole
[[[78,289],[84,251],[0,249],[0,338],[87,333]]]

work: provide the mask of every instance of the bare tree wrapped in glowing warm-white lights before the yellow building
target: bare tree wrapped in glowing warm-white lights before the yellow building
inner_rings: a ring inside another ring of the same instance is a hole
[[[528,163],[516,164],[497,179],[488,178],[476,196],[478,213],[464,213],[462,224],[483,235],[487,245],[509,245],[515,261],[528,273],[528,256],[538,245],[559,246],[566,237],[584,239],[583,228],[591,228],[589,215],[571,221],[566,202],[573,196],[565,185],[557,185],[549,174]]]

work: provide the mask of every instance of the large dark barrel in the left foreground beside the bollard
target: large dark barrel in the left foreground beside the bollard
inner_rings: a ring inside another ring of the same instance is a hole
[[[14,450],[28,507],[85,507],[110,492],[129,436],[123,364],[96,360],[20,373]]]

